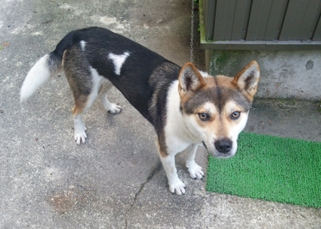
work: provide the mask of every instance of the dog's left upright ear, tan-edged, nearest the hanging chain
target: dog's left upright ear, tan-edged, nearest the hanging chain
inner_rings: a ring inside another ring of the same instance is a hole
[[[193,93],[203,86],[205,86],[205,82],[198,69],[193,63],[186,63],[178,76],[178,92],[180,96]]]

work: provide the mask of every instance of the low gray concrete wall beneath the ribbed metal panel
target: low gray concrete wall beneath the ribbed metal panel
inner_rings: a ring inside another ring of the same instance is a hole
[[[206,59],[213,76],[234,76],[257,61],[260,98],[321,101],[321,51],[206,51]]]

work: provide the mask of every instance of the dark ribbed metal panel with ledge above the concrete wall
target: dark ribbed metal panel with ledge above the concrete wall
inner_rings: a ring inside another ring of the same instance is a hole
[[[213,46],[225,47],[224,49],[240,49],[242,44],[247,49],[250,46],[265,49],[295,49],[295,46],[298,49],[312,49],[311,47],[320,44],[321,0],[199,1],[205,2],[203,11],[207,47],[210,42]],[[311,40],[315,42],[310,42]],[[297,41],[304,44],[300,45]]]

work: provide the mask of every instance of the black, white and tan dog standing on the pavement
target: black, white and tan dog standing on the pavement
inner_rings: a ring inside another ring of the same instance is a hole
[[[213,77],[193,63],[181,68],[124,36],[91,27],[71,31],[54,51],[34,64],[21,86],[21,101],[61,71],[75,100],[76,143],[86,142],[81,116],[98,93],[109,113],[121,112],[121,106],[106,96],[108,88],[115,86],[153,124],[170,193],[177,195],[185,194],[185,184],[178,178],[175,154],[187,151],[185,166],[194,179],[204,177],[203,169],[195,163],[198,146],[205,146],[215,157],[234,156],[260,78],[256,61],[233,78]]]

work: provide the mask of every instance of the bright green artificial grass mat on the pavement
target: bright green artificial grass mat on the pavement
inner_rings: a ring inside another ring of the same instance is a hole
[[[321,142],[240,133],[235,156],[209,156],[206,190],[320,208]]]

